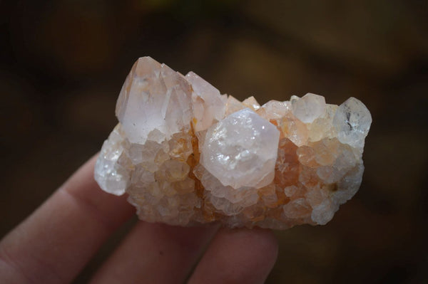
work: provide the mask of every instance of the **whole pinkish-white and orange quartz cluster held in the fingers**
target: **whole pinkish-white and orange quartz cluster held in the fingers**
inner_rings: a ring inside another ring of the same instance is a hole
[[[133,65],[116,116],[95,179],[127,193],[140,219],[275,229],[325,224],[357,192],[372,122],[356,98],[260,106],[150,57]]]

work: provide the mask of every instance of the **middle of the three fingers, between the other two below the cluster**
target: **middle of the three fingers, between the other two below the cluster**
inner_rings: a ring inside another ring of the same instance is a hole
[[[92,283],[183,283],[217,229],[138,223]]]

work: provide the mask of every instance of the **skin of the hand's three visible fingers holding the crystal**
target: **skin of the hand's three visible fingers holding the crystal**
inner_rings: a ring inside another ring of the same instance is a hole
[[[0,242],[0,283],[70,283],[135,209],[99,189],[90,159]],[[139,221],[91,283],[263,283],[271,231]],[[189,276],[190,275],[190,276]]]

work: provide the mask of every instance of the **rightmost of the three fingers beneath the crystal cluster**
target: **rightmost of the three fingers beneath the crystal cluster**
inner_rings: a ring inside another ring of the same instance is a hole
[[[277,241],[271,231],[223,228],[189,283],[264,283],[276,258]]]

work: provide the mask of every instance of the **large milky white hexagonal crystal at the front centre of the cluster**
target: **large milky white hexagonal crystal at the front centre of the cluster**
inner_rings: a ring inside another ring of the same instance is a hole
[[[274,177],[280,132],[245,108],[208,129],[200,163],[224,186],[260,188]]]

